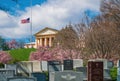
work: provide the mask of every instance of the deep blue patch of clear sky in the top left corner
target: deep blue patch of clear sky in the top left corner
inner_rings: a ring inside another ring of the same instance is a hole
[[[41,5],[47,2],[47,0],[0,0],[0,5],[8,10],[9,14],[17,15],[17,11],[25,11],[26,7],[35,6],[36,4]],[[8,4],[9,3],[9,4]]]

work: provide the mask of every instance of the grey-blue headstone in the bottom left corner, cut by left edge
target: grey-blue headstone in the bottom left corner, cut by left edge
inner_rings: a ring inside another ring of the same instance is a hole
[[[7,78],[13,77],[15,75],[14,70],[0,70],[0,81],[7,81]]]

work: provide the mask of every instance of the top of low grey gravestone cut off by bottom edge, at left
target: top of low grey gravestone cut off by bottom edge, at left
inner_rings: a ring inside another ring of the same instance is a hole
[[[12,77],[8,78],[7,81],[36,81],[36,79],[29,77]]]

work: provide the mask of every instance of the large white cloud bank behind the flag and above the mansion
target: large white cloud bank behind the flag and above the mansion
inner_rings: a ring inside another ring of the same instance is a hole
[[[85,9],[99,11],[99,0],[48,0],[32,7],[33,34],[44,27],[60,29],[68,24],[79,22]],[[21,12],[21,11],[18,11]],[[21,16],[14,17],[0,11],[0,36],[21,38],[30,35],[30,24],[21,24],[21,19],[30,17],[31,8],[26,8]]]

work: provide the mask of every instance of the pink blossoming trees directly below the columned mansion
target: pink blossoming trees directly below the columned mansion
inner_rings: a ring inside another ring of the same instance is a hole
[[[30,60],[64,60],[64,59],[78,59],[82,58],[80,52],[69,49],[62,49],[60,46],[54,48],[40,47],[36,52],[30,54]]]

